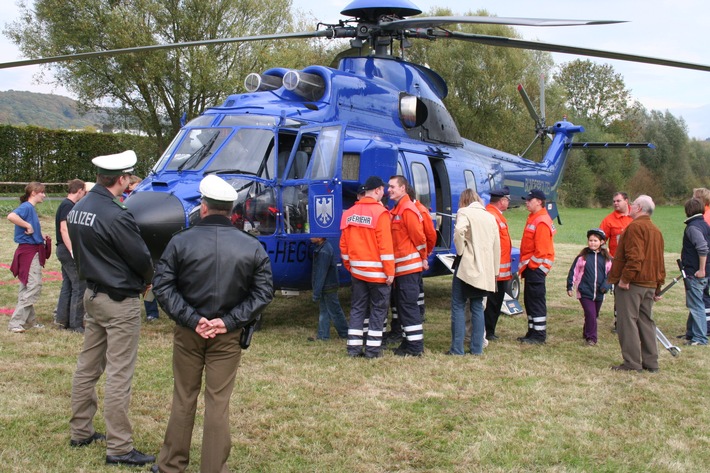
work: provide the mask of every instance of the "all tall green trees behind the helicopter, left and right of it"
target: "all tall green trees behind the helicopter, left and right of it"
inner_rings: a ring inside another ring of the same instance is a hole
[[[289,0],[35,0],[5,29],[27,57],[185,42],[208,38],[312,30],[317,20],[291,10]],[[488,15],[469,11],[467,15]],[[434,8],[427,16],[454,15]],[[477,34],[520,38],[502,25],[455,25]],[[301,69],[331,64],[346,42],[258,41],[127,54],[50,65],[54,82],[86,107],[110,103],[154,143],[157,157],[184,120],[241,93],[249,72],[271,67]],[[559,196],[564,205],[607,205],[616,190],[647,193],[659,203],[678,202],[710,180],[710,144],[691,140],[681,118],[646,110],[634,101],[611,66],[588,60],[555,65],[549,53],[497,48],[463,41],[413,42],[404,58],[425,64],[448,83],[444,103],[462,136],[520,154],[535,127],[517,92],[528,89],[534,103],[540,75],[546,86],[547,125],[566,116],[587,130],[584,141],[647,141],[655,150],[574,150]],[[100,135],[92,135],[98,137]],[[103,139],[103,138],[102,138]],[[549,140],[547,142],[549,144]],[[541,158],[545,143],[526,153]],[[70,168],[66,168],[67,170]],[[71,176],[70,176],[71,177]]]

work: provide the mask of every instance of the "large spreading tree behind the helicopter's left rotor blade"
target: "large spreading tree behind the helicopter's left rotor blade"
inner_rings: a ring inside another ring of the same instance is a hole
[[[32,8],[21,3],[21,19],[5,32],[26,56],[53,56],[286,32],[293,25],[290,5],[290,0],[36,0]],[[269,42],[221,44],[48,67],[55,82],[82,103],[109,102],[127,110],[163,149],[183,114],[193,118],[238,92],[245,75],[264,68],[274,48]]]

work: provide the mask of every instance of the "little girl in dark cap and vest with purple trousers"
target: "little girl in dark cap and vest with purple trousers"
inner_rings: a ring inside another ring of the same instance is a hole
[[[604,248],[606,234],[600,228],[587,232],[587,246],[572,262],[567,274],[567,295],[576,294],[584,312],[582,336],[589,346],[597,344],[597,319],[604,302],[604,294],[611,288],[607,275],[611,269],[611,255]]]

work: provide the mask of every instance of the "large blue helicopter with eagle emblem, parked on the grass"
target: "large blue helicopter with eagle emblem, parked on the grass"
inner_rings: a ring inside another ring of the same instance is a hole
[[[217,174],[238,192],[232,222],[253,234],[272,262],[275,287],[310,288],[310,238],[325,237],[337,248],[343,209],[357,199],[368,176],[385,181],[403,175],[416,198],[430,210],[437,243],[425,275],[445,274],[437,256],[453,248],[453,216],[461,191],[484,199],[491,189],[508,186],[513,200],[530,189],[555,205],[565,161],[577,146],[647,146],[576,143],[581,126],[566,120],[547,126],[521,89],[536,122],[537,138],[550,138],[540,162],[478,144],[460,136],[442,100],[444,79],[422,65],[395,57],[396,41],[448,38],[495,46],[566,52],[595,57],[710,71],[710,66],[550,43],[450,31],[456,23],[567,26],[614,23],[498,17],[415,17],[421,10],[408,0],[354,0],[341,12],[351,19],[303,33],[226,38],[98,51],[0,64],[0,68],[110,56],[144,50],[284,38],[351,38],[351,49],[337,67],[303,70],[273,68],[252,73],[247,93],[230,95],[186,123],[151,173],[126,200],[152,256],[157,259],[171,236],[198,221],[198,184]],[[541,107],[542,108],[542,107]],[[199,244],[199,243],[196,243]],[[514,266],[519,254],[514,254]],[[515,269],[515,268],[514,268]],[[341,270],[341,279],[348,280]],[[517,281],[513,296],[517,296]]]

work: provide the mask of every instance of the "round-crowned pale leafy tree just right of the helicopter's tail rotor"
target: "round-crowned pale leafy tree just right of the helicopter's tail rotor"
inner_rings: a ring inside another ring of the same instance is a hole
[[[608,64],[577,59],[562,64],[555,81],[565,90],[573,121],[587,119],[608,126],[628,108],[630,95],[624,79]]]

